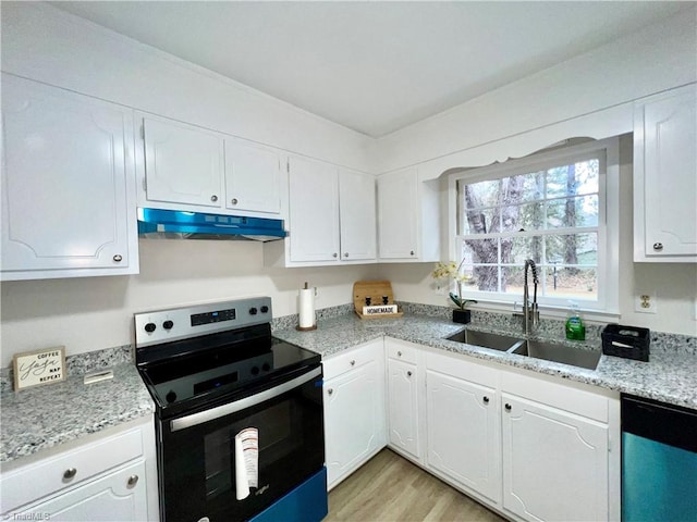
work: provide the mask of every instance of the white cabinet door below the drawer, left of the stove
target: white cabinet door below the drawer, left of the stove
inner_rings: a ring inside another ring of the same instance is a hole
[[[14,513],[14,517],[64,522],[146,521],[145,473],[145,463],[139,462]]]

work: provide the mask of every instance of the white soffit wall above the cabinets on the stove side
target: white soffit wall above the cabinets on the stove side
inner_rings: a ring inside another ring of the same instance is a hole
[[[39,2],[2,2],[2,71],[371,172],[371,139]]]

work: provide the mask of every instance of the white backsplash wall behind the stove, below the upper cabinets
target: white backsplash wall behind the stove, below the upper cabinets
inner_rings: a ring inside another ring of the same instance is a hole
[[[318,309],[346,304],[353,283],[376,273],[370,264],[265,269],[260,243],[139,243],[139,275],[2,283],[2,366],[15,352],[50,346],[74,355],[131,344],[133,314],[146,310],[270,296],[273,315],[289,315],[304,282],[318,288]]]

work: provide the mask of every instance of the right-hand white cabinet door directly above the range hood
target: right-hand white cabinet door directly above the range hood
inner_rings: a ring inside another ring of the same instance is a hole
[[[281,212],[280,167],[278,152],[225,139],[225,208]]]

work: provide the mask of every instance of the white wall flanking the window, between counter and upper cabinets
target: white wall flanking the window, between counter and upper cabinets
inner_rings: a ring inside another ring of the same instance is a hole
[[[620,139],[620,313],[621,324],[657,332],[697,335],[697,264],[635,263],[633,261],[632,136]],[[441,216],[444,219],[444,216]],[[395,298],[426,304],[449,306],[432,289],[433,263],[381,264],[379,277],[392,281]],[[636,290],[656,290],[657,313],[635,312]],[[479,307],[473,307],[479,308]]]

